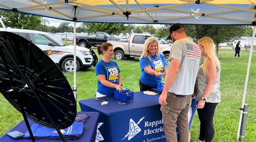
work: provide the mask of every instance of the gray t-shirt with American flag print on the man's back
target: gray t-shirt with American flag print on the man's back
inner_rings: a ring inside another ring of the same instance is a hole
[[[173,43],[167,73],[169,73],[170,62],[173,58],[180,60],[180,67],[169,92],[182,95],[193,94],[200,57],[201,50],[192,40],[183,38]]]

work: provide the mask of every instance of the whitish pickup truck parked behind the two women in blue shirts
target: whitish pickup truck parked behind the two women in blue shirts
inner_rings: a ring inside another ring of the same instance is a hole
[[[120,41],[108,41],[113,45],[114,58],[124,59],[140,57],[143,52],[143,45],[147,38],[151,37],[145,33],[133,33],[130,39],[121,39]],[[165,61],[169,59],[171,50],[170,44],[159,41],[160,52],[164,54]],[[168,63],[168,62],[167,62]]]

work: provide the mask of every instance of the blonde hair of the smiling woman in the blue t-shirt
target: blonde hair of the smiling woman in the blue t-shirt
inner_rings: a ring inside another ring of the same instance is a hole
[[[140,56],[140,58],[146,56],[147,58],[149,58],[149,60],[151,60],[151,56],[150,56],[150,53],[149,53],[149,48],[150,48],[150,45],[154,42],[157,43],[156,55],[157,55],[157,57],[159,56],[160,48],[159,48],[159,43],[157,41],[157,38],[156,37],[150,37],[150,38],[147,38],[146,42],[144,43],[144,47],[143,47],[144,49],[143,49],[143,52],[142,52],[142,56]]]

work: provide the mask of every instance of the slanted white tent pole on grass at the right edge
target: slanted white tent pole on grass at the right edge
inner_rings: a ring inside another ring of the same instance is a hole
[[[247,72],[246,72],[246,78],[245,78],[244,94],[242,96],[242,105],[241,105],[241,108],[240,108],[240,119],[239,119],[239,126],[238,126],[238,132],[237,132],[238,140],[240,138],[240,128],[241,128],[241,123],[242,123],[242,114],[244,113],[245,97],[246,97],[248,78],[249,78],[250,68],[251,68],[252,51],[253,51],[253,45],[254,45],[255,31],[256,31],[256,26],[253,26],[251,49],[250,49],[250,55],[249,55],[249,59],[248,59],[248,66],[247,66]]]

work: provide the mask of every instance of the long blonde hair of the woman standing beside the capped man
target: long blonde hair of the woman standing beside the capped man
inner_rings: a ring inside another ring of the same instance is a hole
[[[207,76],[207,65],[209,64],[209,62],[212,62],[213,67],[218,67],[219,69],[220,62],[215,52],[215,45],[210,37],[203,37],[198,40],[198,43],[204,46],[205,55],[207,55],[204,63],[202,64],[204,75]]]

